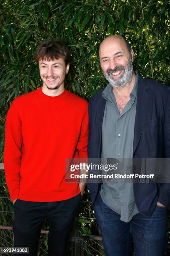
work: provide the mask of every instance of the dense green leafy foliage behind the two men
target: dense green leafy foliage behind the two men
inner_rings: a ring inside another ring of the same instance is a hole
[[[66,41],[72,54],[66,88],[88,99],[107,84],[100,69],[98,49],[111,34],[120,34],[131,43],[134,67],[140,75],[168,84],[169,31],[169,0],[1,1],[0,162],[5,116],[11,102],[41,86],[33,56],[40,41]],[[5,185],[0,184],[0,196],[6,191]],[[10,210],[10,205],[6,208]]]

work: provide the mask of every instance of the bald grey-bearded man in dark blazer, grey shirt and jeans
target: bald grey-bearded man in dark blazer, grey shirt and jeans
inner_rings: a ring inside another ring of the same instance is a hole
[[[109,84],[90,100],[89,158],[169,158],[170,88],[133,71],[121,36],[100,45]],[[107,256],[161,256],[166,251],[170,184],[88,184]]]

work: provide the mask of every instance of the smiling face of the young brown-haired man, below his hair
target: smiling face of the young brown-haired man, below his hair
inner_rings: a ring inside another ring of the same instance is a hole
[[[40,77],[43,81],[43,90],[64,90],[65,74],[68,73],[69,64],[65,65],[62,58],[54,60],[41,59],[39,62]]]

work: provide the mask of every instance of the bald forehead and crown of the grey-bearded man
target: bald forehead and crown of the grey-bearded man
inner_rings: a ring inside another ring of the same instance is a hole
[[[100,59],[106,56],[112,56],[118,52],[128,54],[125,41],[122,38],[106,38],[100,45]]]

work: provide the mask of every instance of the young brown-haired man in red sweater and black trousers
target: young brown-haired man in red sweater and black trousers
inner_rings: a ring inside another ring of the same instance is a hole
[[[48,255],[64,256],[85,184],[65,183],[65,159],[86,158],[87,102],[64,88],[70,54],[60,41],[36,50],[43,85],[17,97],[6,118],[4,166],[14,203],[14,246],[38,249],[48,218]]]

